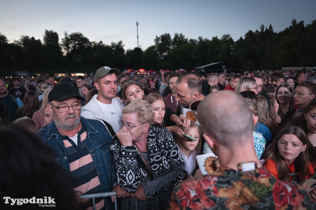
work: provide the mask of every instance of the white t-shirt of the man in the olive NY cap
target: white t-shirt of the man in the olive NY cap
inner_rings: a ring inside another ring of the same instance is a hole
[[[121,126],[119,125],[119,120],[122,120],[121,119],[121,115],[119,113],[119,111],[117,110],[117,107],[116,106],[113,106],[113,104],[105,104],[105,103],[102,103],[102,102],[99,102],[97,101],[98,104],[100,105],[102,111],[103,111],[103,114],[106,115],[107,119],[111,119],[110,122],[107,122],[109,123],[114,132],[117,133],[119,132],[119,130],[121,130]]]

